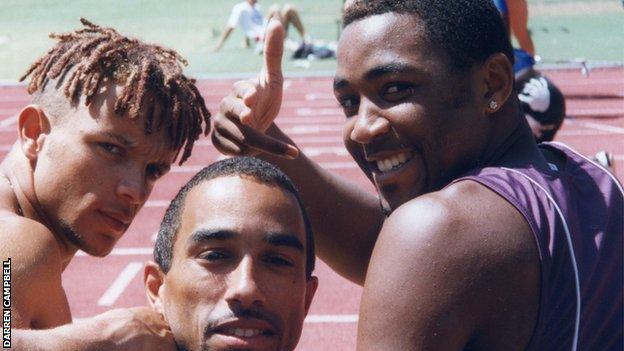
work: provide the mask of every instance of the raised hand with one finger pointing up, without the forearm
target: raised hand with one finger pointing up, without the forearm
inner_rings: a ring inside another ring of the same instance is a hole
[[[256,155],[266,152],[295,158],[299,151],[265,134],[282,105],[284,77],[282,54],[284,28],[271,20],[264,42],[264,65],[256,79],[239,81],[219,106],[214,118],[212,142],[227,155]]]

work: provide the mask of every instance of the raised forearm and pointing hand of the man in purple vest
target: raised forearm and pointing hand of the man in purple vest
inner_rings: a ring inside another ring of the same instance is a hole
[[[297,184],[309,211],[319,256],[344,277],[363,284],[384,217],[379,202],[323,170],[282,133],[273,120],[282,102],[283,29],[271,21],[259,78],[238,82],[214,119],[212,140],[222,153],[256,155],[274,163]],[[266,132],[266,134],[265,134]]]

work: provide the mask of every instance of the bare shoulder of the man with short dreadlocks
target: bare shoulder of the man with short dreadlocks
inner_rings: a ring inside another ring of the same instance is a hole
[[[0,216],[0,256],[11,259],[13,323],[51,327],[71,320],[61,285],[58,243],[42,224],[17,215]]]

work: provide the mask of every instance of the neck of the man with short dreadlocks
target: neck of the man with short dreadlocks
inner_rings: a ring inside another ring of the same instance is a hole
[[[21,152],[18,143],[13,145],[0,163],[0,178],[6,178],[5,181],[0,181],[0,207],[45,226],[56,239],[65,269],[78,248],[53,225],[54,222],[49,220],[43,210],[35,191],[34,166]]]

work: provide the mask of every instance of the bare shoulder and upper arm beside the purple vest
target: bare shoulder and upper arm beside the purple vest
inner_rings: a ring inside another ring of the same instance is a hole
[[[462,183],[406,203],[384,224],[358,350],[522,350],[529,341],[540,281],[529,226],[497,195]]]

